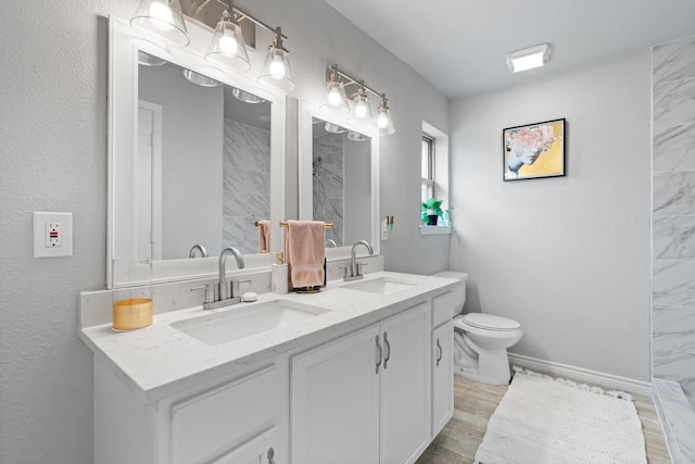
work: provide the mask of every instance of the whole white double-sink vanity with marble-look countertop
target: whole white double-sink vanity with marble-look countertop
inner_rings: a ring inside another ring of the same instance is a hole
[[[460,286],[379,271],[132,331],[85,325],[96,462],[414,462],[453,414]],[[83,300],[83,321],[108,310]]]

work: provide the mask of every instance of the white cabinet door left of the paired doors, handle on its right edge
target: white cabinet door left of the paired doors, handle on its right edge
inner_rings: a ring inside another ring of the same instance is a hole
[[[292,463],[379,462],[378,335],[374,325],[292,358]]]

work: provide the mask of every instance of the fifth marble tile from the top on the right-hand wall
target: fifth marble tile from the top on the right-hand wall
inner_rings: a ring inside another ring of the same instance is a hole
[[[652,230],[655,260],[695,260],[695,216],[655,216]]]

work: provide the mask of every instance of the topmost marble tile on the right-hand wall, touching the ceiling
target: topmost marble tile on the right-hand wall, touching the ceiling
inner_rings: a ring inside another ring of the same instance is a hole
[[[654,47],[654,84],[695,77],[695,37]]]

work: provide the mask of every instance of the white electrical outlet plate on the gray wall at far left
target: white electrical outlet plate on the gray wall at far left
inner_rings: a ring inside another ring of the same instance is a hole
[[[73,213],[34,213],[34,258],[73,255]]]

